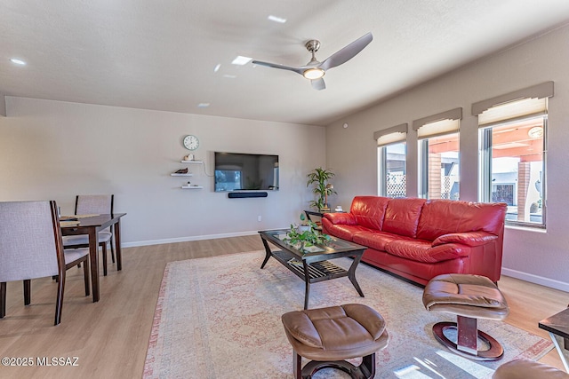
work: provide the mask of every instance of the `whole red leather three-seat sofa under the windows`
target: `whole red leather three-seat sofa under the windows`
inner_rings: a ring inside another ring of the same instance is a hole
[[[362,261],[425,285],[442,273],[500,280],[507,204],[356,196],[323,232],[367,246]]]

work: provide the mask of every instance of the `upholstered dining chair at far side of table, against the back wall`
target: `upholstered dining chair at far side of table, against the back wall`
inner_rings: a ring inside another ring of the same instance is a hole
[[[113,205],[115,202],[114,194],[81,194],[75,198],[75,214],[107,214],[113,213]],[[99,246],[102,250],[103,257],[103,275],[107,276],[107,244],[110,243],[111,259],[115,263],[115,247],[114,238],[111,228],[107,228],[99,232]],[[68,235],[63,237],[63,246],[68,248],[88,248],[89,236]]]

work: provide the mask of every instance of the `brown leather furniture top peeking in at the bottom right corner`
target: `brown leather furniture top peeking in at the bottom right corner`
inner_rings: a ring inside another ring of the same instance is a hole
[[[569,379],[569,374],[556,367],[528,359],[515,359],[498,367],[493,379]]]

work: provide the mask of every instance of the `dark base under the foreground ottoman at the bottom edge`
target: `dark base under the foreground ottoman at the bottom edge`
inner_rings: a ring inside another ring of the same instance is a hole
[[[352,379],[371,379],[375,376],[375,353],[366,355],[359,366],[354,366],[346,360],[320,361],[311,360],[301,368],[302,357],[293,351],[295,379],[310,379],[324,368],[334,368],[348,373]]]

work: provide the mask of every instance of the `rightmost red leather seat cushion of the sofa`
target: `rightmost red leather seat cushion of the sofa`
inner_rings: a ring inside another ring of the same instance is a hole
[[[396,240],[389,242],[385,250],[394,256],[404,257],[418,262],[435,263],[458,257],[467,257],[470,248],[458,243],[445,243],[431,247],[431,241]]]

